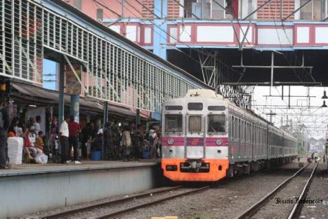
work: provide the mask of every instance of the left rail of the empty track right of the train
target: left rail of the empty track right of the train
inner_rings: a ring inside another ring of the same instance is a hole
[[[300,174],[300,172],[302,172],[303,170],[305,170],[305,168],[307,168],[307,166],[309,165],[309,163],[307,163],[307,165],[305,165],[303,168],[301,168],[300,170],[298,170],[294,175],[290,176],[289,178],[287,178],[285,181],[283,181],[283,183],[279,184],[276,188],[274,188],[269,194],[267,194],[266,196],[264,196],[261,200],[259,200],[257,203],[255,203],[254,205],[252,205],[252,207],[250,207],[249,209],[243,211],[242,214],[240,214],[239,216],[237,216],[238,219],[241,218],[248,218],[248,216],[250,216],[252,213],[254,213],[254,211],[259,208],[259,206],[261,206],[266,200],[268,200],[272,195],[274,195],[276,192],[278,192],[279,189],[281,189],[282,187],[284,187],[285,185],[287,185],[287,183],[289,181],[292,180],[292,178],[294,178],[295,176],[297,176],[298,174]]]

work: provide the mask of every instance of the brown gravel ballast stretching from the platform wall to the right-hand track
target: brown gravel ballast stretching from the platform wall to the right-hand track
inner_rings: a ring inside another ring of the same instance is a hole
[[[204,192],[198,192],[196,194],[189,194],[187,196],[181,196],[172,200],[166,200],[163,203],[131,211],[129,214],[124,214],[116,218],[151,218],[155,216],[179,216],[179,219],[235,218],[239,216],[242,211],[245,211],[245,209],[248,209],[258,200],[263,198],[263,196],[267,193],[271,192],[274,187],[285,181],[285,179],[289,176],[292,176],[292,174],[294,174],[298,169],[298,163],[293,162],[280,166],[274,170],[254,172],[250,176],[227,178],[219,181],[215,187],[204,190]],[[191,187],[187,187],[186,189],[190,188]],[[170,194],[172,194],[172,192]],[[129,194],[129,196],[131,195],[132,194]],[[154,199],[138,199],[138,204],[143,201],[148,202],[155,200],[156,197],[158,198],[159,196],[152,197]],[[115,200],[118,198],[122,198],[122,196],[97,200],[91,203]],[[41,218],[47,214],[52,214],[54,212],[76,208],[83,205],[90,205],[91,203],[62,207],[51,211],[43,211],[38,214],[22,216],[21,218]],[[133,202],[123,204],[122,207],[131,207],[132,203]],[[69,218],[93,218],[99,214],[104,214],[109,211],[116,211],[117,209],[118,207],[104,207],[95,209],[94,211],[89,211],[88,213],[81,212],[80,214]],[[270,218],[272,217],[270,216]]]

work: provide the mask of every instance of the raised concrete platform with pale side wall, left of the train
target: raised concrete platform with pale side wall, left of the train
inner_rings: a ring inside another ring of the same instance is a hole
[[[0,218],[142,192],[164,181],[160,159],[81,162],[0,170]]]

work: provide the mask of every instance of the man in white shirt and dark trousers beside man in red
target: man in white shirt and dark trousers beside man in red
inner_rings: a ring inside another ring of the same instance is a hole
[[[61,163],[69,163],[69,131],[68,131],[69,116],[66,115],[59,129],[59,139],[61,142]]]

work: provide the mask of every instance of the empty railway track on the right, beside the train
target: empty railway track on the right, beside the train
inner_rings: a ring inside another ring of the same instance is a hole
[[[295,179],[297,176],[299,176],[300,173],[303,172],[309,165],[310,165],[310,163],[307,163],[307,165],[305,165],[303,168],[298,170],[294,175],[290,176],[285,181],[283,181],[283,183],[281,183],[277,187],[275,187],[272,190],[272,192],[270,192],[265,197],[263,197],[261,200],[259,200],[257,203],[252,205],[252,207],[250,207],[249,209],[243,211],[243,213],[240,214],[237,218],[238,219],[251,218],[252,216],[257,214],[259,211],[261,211],[261,209],[265,209],[265,208],[270,209],[270,206],[267,206],[267,203],[269,203],[270,200],[272,200],[274,198],[274,196],[276,194],[278,194],[278,192],[283,191],[283,188],[286,187],[293,179]],[[311,185],[311,181],[314,176],[314,172],[316,172],[317,168],[318,168],[318,163],[316,163],[313,170],[311,171],[311,174],[309,174],[309,177],[307,178],[305,185],[303,185],[303,189],[301,190],[300,193],[298,193],[298,196],[297,196],[298,200],[303,200],[304,198],[306,198],[307,190],[309,189],[309,186]],[[289,214],[286,217],[288,219],[297,217],[297,215],[299,214],[300,209],[302,207],[302,205],[298,201],[295,201],[292,204],[293,204],[292,205],[293,207],[292,207],[292,209],[289,209]]]

